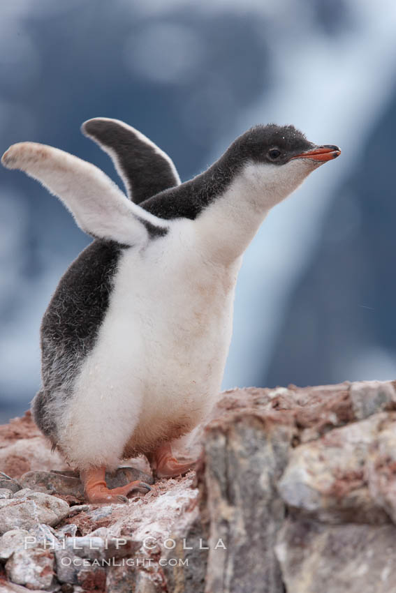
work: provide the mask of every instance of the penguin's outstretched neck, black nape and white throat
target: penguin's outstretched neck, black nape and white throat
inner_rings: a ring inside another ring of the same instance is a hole
[[[141,206],[159,218],[193,220],[205,257],[228,265],[244,253],[268,211],[305,177],[297,179],[293,170],[288,176],[287,168],[253,163],[228,151],[205,173]]]

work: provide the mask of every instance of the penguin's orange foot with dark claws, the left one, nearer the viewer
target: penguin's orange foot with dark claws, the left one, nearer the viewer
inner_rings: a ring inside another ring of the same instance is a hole
[[[80,472],[81,481],[84,484],[85,497],[91,504],[106,502],[107,504],[122,504],[128,502],[126,495],[132,490],[138,490],[146,494],[151,487],[139,480],[129,482],[126,486],[119,488],[108,488],[105,482],[105,467],[92,468]]]

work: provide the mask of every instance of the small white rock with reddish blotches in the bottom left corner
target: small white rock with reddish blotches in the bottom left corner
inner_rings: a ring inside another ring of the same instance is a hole
[[[19,550],[6,563],[8,578],[17,585],[48,589],[54,581],[54,555],[48,550]]]

